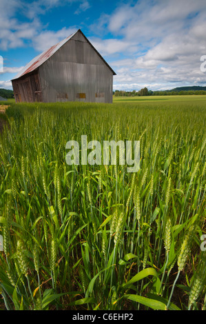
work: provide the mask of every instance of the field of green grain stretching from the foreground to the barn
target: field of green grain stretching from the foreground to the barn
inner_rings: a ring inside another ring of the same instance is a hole
[[[206,103],[192,97],[10,103],[2,309],[206,310]],[[140,170],[67,165],[65,144],[83,134],[140,141]]]

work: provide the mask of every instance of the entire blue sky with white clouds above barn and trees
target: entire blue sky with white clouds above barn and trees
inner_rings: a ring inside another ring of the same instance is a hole
[[[205,0],[0,0],[0,88],[79,28],[116,72],[114,90],[206,85]]]

